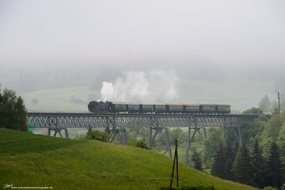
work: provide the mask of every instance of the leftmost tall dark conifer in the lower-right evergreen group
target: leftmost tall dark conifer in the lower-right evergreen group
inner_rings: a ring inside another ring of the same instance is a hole
[[[220,142],[219,149],[217,150],[217,154],[214,156],[214,163],[211,168],[211,174],[215,175],[219,178],[225,179],[225,156],[224,156],[225,148],[223,143]]]

